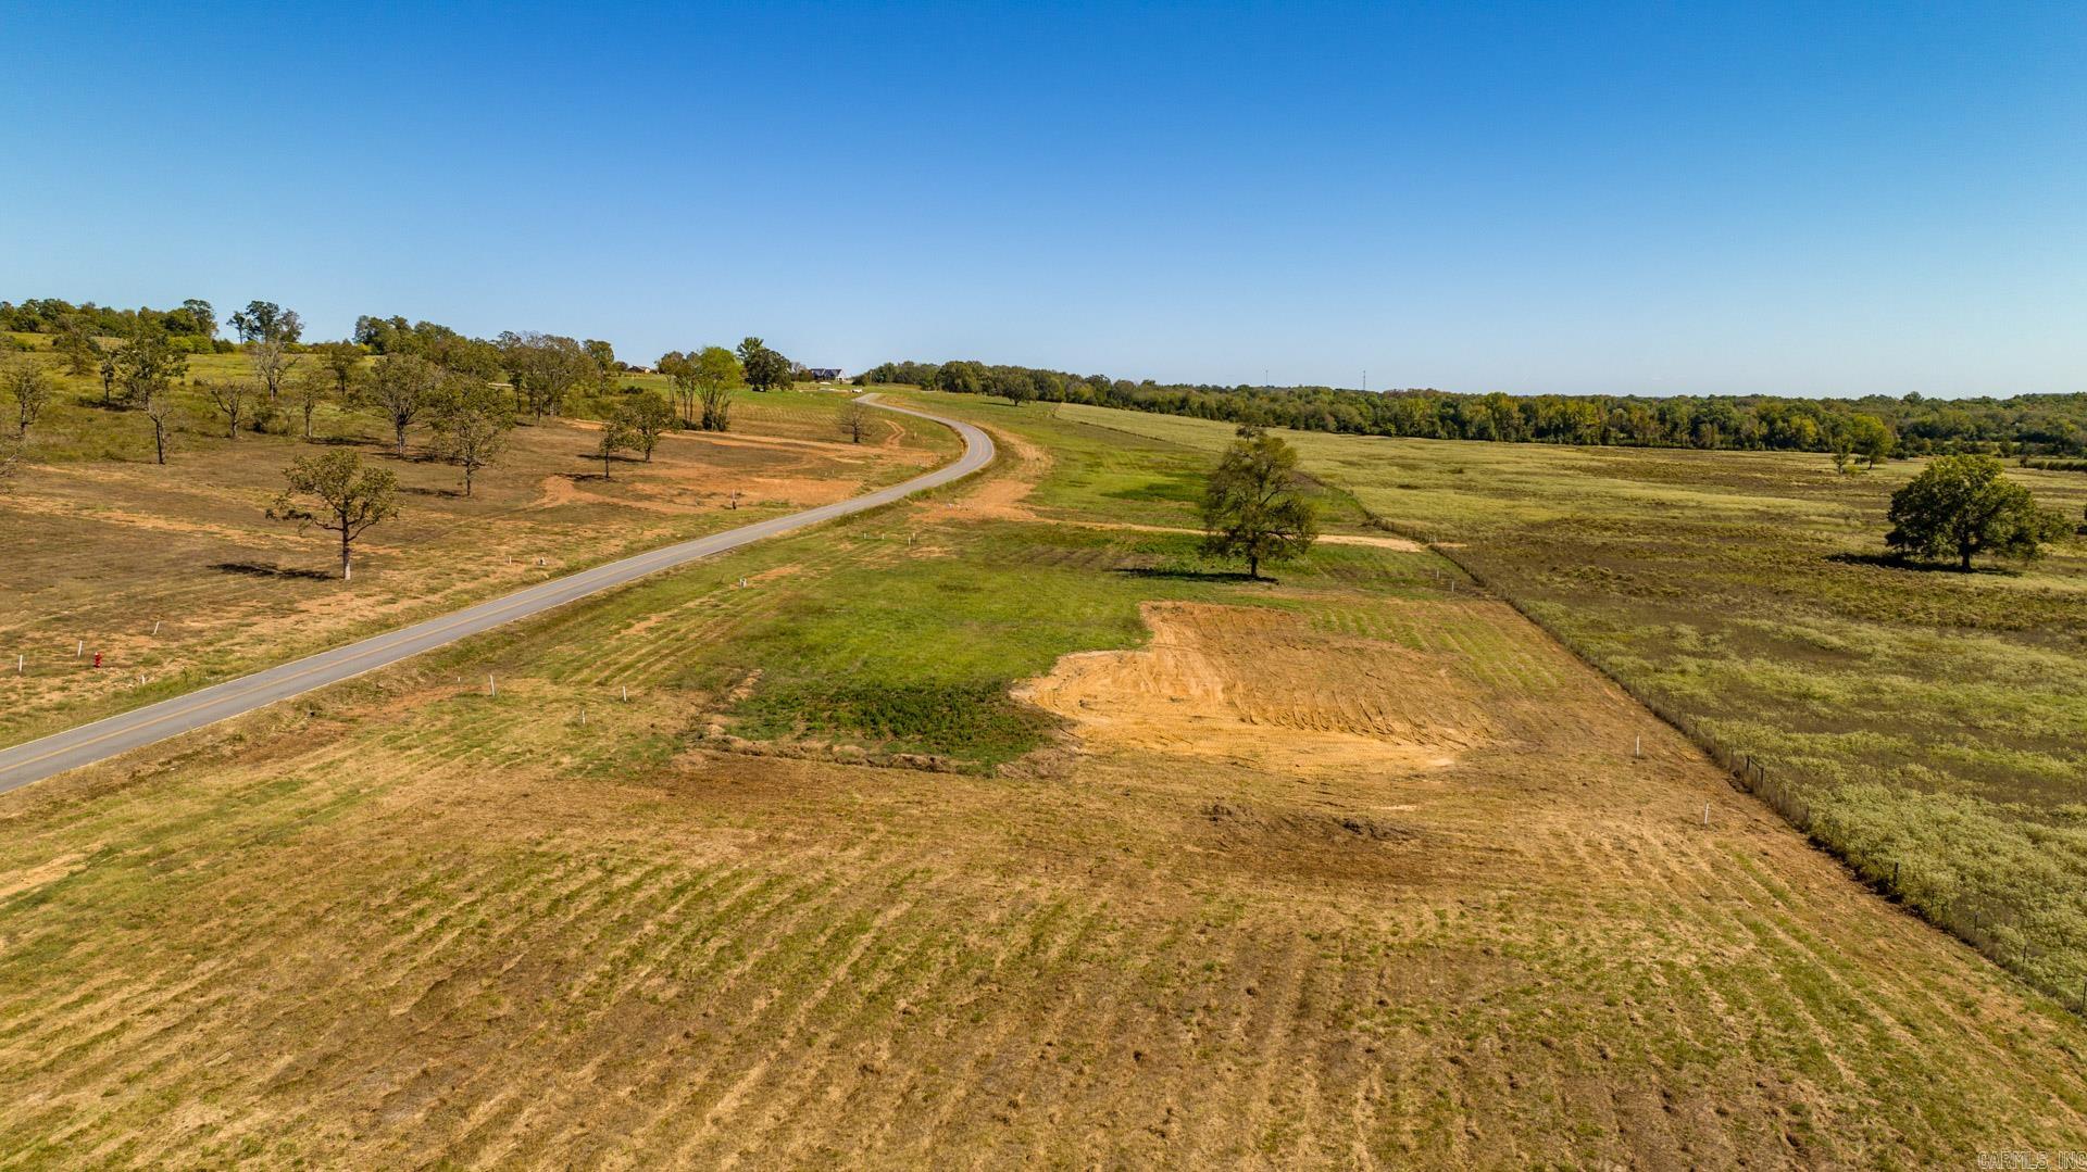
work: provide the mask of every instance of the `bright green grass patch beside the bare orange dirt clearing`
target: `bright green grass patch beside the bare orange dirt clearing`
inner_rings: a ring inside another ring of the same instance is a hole
[[[1008,423],[960,396],[908,398]],[[1016,438],[1029,450],[1046,448],[1050,461],[1050,475],[1023,500],[1031,517],[995,517],[1002,523],[985,530],[970,515],[943,519],[933,507],[952,496],[943,490],[899,526],[883,513],[833,526],[822,542],[831,548],[812,563],[801,561],[799,546],[749,551],[716,571],[701,601],[687,601],[687,580],[620,594],[589,617],[597,626],[624,624],[620,630],[599,638],[547,630],[566,657],[545,651],[534,659],[524,651],[518,663],[557,680],[607,682],[624,674],[710,694],[728,694],[760,672],[726,709],[737,736],[933,755],[981,770],[1048,740],[1052,722],[1014,703],[1008,688],[1071,651],[1137,644],[1140,603],[1269,596],[1267,584],[1238,582],[1236,567],[1206,561],[1192,532],[1056,523],[1188,530],[1196,519],[1181,486],[1200,482],[1208,465],[1202,453],[1142,444],[1044,411],[1029,411]],[[1327,513],[1336,528],[1363,519],[1342,498],[1327,498]],[[1440,594],[1423,567],[1434,561],[1409,555],[1386,563],[1369,551],[1323,546],[1286,571],[1284,584]],[[726,590],[749,567],[743,596],[737,586]],[[697,580],[705,573],[691,571]],[[674,651],[649,661],[647,644]]]

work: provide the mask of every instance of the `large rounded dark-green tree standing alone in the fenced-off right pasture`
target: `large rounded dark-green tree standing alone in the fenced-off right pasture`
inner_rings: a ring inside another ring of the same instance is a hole
[[[1891,494],[1891,532],[1899,555],[1949,557],[1970,571],[1976,555],[2033,559],[2043,542],[2070,528],[2039,509],[2026,488],[2006,480],[1993,457],[1941,457]]]

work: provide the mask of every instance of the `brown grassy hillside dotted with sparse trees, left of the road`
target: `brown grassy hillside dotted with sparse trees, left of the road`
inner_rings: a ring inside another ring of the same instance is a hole
[[[244,373],[200,357],[198,377]],[[223,369],[219,369],[223,367]],[[457,469],[388,455],[382,421],[328,409],[319,444],[227,440],[184,388],[171,463],[142,413],[67,380],[0,494],[0,744],[455,609],[576,567],[851,496],[952,459],[945,428],[885,417],[839,440],[831,392],[743,394],[728,436],[678,434],[651,463],[593,459],[586,421],[513,432],[470,498]],[[582,402],[580,407],[586,407]],[[349,446],[392,467],[403,513],[363,538],[342,584],[330,534],[269,521],[282,469]],[[737,509],[733,509],[737,494]],[[104,667],[92,667],[102,653]],[[15,674],[15,657],[23,672]],[[144,682],[140,682],[144,678]]]

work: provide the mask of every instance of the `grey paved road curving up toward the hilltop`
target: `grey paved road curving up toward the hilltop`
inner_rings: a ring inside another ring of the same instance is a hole
[[[864,496],[854,496],[835,505],[820,505],[818,509],[806,509],[803,513],[791,513],[789,517],[755,521],[751,526],[741,526],[707,538],[695,538],[655,548],[651,553],[641,553],[637,557],[626,557],[622,561],[611,561],[607,565],[597,565],[593,569],[582,569],[580,573],[570,573],[566,578],[553,578],[551,582],[541,582],[526,590],[515,590],[513,594],[478,603],[476,607],[465,607],[438,619],[428,619],[390,634],[336,646],[334,651],[321,651],[319,655],[307,655],[305,659],[294,659],[280,667],[269,667],[267,672],[255,672],[253,676],[242,676],[238,680],[188,692],[186,697],[161,701],[157,705],[98,719],[94,724],[83,724],[42,740],[4,749],[0,751],[0,792],[29,782],[40,782],[52,774],[63,774],[65,770],[77,770],[79,765],[88,765],[104,757],[115,757],[117,753],[138,749],[140,744],[152,744],[154,740],[179,736],[207,724],[217,724],[219,719],[248,713],[313,688],[338,684],[351,676],[361,676],[363,672],[399,663],[401,659],[409,659],[422,651],[457,642],[463,636],[478,634],[513,619],[541,615],[551,607],[563,607],[574,599],[584,599],[611,586],[634,582],[647,573],[657,573],[662,569],[687,565],[695,559],[739,548],[762,538],[772,538],[776,534],[787,534],[791,530],[801,530],[806,526],[889,505],[902,496],[920,492],[922,488],[935,488],[937,484],[950,484],[952,480],[970,475],[993,459],[991,436],[970,423],[927,415],[906,407],[891,407],[887,402],[879,402],[879,407],[885,411],[918,415],[920,419],[954,428],[956,434],[964,438],[964,455],[958,457],[956,463],[937,467],[935,471],[916,475],[904,484],[893,484],[891,488],[879,488],[877,492],[868,492]]]

